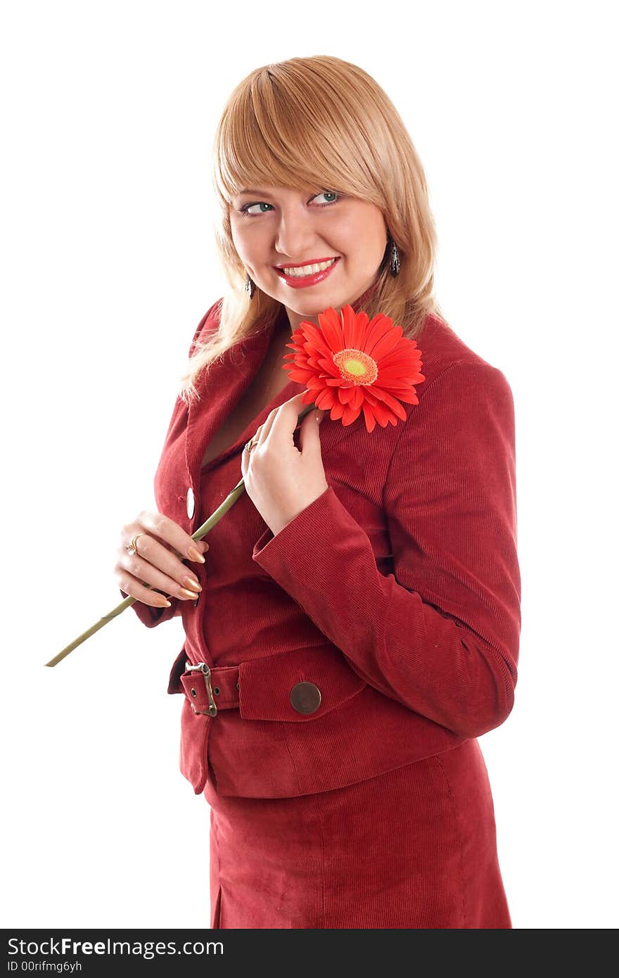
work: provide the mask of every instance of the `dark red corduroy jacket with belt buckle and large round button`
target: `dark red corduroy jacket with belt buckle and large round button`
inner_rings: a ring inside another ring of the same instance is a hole
[[[200,320],[190,353],[217,330],[219,309],[220,300]],[[176,401],[155,501],[188,533],[241,479],[247,438],[304,389],[290,382],[221,463],[200,471],[272,329],[213,365],[199,402]],[[206,778],[248,797],[330,790],[491,731],[511,711],[520,636],[511,391],[437,317],[417,342],[425,379],[406,421],[369,433],[363,414],[347,426],[327,415],[329,489],[275,536],[243,493],[208,534],[205,564],[191,565],[198,602],[133,605],[149,627],[182,615],[168,691],[185,696],[180,767],[196,793]],[[186,669],[199,662],[212,668],[210,689]]]

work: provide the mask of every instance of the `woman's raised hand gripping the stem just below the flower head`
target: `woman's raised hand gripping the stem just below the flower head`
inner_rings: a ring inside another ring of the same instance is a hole
[[[308,412],[299,427],[300,451],[294,444],[304,393],[273,409],[253,436],[257,444],[241,457],[245,492],[274,535],[329,489],[317,421],[324,411]]]

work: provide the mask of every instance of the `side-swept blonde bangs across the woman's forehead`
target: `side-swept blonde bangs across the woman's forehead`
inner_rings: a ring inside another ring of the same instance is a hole
[[[359,120],[335,93],[324,83],[313,86],[307,67],[298,72],[289,63],[246,79],[228,102],[213,147],[222,202],[265,185],[382,200]]]

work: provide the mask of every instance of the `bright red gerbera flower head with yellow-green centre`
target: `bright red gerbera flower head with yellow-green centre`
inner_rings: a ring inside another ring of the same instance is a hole
[[[331,411],[332,421],[352,424],[363,410],[368,431],[376,422],[385,427],[406,420],[401,401],[419,404],[413,384],[420,374],[421,351],[415,339],[404,336],[389,316],[372,321],[365,312],[342,306],[341,316],[330,306],[318,316],[321,329],[304,320],[287,343],[290,380],[304,383],[304,404]]]

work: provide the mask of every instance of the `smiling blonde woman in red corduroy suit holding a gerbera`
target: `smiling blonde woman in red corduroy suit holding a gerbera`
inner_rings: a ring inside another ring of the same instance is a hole
[[[230,288],[119,560],[146,625],[183,619],[211,926],[509,928],[476,738],[516,682],[513,404],[439,315],[420,160],[365,71],[294,58],[232,93],[214,185]]]

